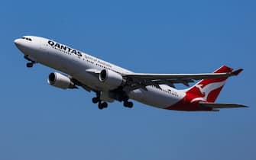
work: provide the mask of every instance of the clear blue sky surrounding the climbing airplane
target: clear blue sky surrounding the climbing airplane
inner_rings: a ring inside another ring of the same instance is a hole
[[[0,159],[256,159],[254,1],[3,1]],[[83,89],[47,85],[13,40],[48,37],[134,72],[243,68],[218,102],[250,108],[160,110],[115,102],[99,110]]]

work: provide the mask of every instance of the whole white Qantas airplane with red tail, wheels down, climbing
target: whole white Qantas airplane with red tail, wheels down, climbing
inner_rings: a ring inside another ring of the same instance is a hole
[[[151,74],[135,73],[82,51],[44,37],[24,36],[14,41],[27,59],[27,67],[41,63],[60,72],[51,72],[47,82],[57,88],[84,88],[93,91],[92,103],[99,109],[120,101],[133,107],[130,100],[167,110],[219,111],[222,108],[247,107],[244,104],[214,103],[225,81],[243,69],[233,71],[221,66],[212,73]],[[199,81],[190,87],[190,83]],[[186,85],[177,89],[176,84]]]

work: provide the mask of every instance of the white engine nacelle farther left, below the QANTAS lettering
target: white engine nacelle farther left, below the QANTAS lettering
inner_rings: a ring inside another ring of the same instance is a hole
[[[62,75],[57,72],[52,72],[48,76],[47,82],[49,85],[53,85],[57,88],[67,89],[67,88],[77,88],[76,85],[71,81],[66,75]]]

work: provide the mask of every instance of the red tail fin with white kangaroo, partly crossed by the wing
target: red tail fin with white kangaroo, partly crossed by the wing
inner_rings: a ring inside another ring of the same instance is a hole
[[[214,73],[232,72],[232,70],[233,69],[228,66],[221,66],[219,69],[215,70]],[[220,91],[222,91],[226,79],[227,78],[203,79],[186,91],[186,97],[189,98],[191,102],[214,102]]]

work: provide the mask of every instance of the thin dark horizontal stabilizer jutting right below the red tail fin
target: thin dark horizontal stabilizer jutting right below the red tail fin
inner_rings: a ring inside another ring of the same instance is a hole
[[[232,108],[232,107],[248,107],[244,104],[215,104],[209,102],[199,102],[200,107],[212,107],[212,108]]]

